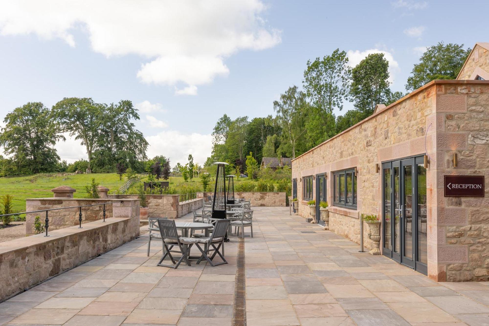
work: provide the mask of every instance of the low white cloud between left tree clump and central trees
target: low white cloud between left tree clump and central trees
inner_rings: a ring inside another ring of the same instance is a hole
[[[156,136],[148,136],[148,157],[165,155],[170,157],[172,166],[185,164],[192,154],[194,162],[203,165],[212,152],[212,135],[182,134],[179,131],[162,131]]]

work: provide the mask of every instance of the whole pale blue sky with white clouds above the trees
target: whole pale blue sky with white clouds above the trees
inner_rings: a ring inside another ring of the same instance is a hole
[[[128,99],[148,157],[203,164],[222,115],[274,115],[309,59],[339,48],[355,66],[382,52],[391,89],[405,92],[426,47],[489,42],[477,23],[489,2],[450,2],[0,0],[0,117],[29,101]],[[87,158],[69,137],[56,149],[68,163]]]

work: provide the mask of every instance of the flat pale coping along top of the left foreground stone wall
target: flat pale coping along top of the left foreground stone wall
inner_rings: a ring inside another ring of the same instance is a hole
[[[33,247],[42,243],[54,241],[64,236],[69,236],[77,233],[83,233],[90,230],[103,228],[110,224],[115,224],[120,221],[131,219],[132,217],[110,217],[105,219],[105,223],[102,220],[97,220],[89,223],[84,223],[83,228],[79,229],[78,226],[67,227],[59,230],[49,231],[49,236],[44,236],[44,233],[29,235],[23,238],[0,242],[0,255],[16,251],[19,249]],[[48,229],[49,230],[49,229]]]

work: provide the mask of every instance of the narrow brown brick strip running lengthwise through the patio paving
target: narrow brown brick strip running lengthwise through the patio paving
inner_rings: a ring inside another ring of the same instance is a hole
[[[236,281],[234,286],[233,326],[246,325],[246,293],[244,278],[244,238],[239,238]]]

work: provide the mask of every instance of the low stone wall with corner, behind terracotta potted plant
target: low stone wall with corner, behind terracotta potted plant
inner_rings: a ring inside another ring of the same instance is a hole
[[[137,195],[109,195],[109,199],[134,199],[138,200]],[[203,206],[202,199],[194,199],[179,203],[178,195],[146,195],[148,205],[148,217],[166,217],[175,219],[182,217]]]

